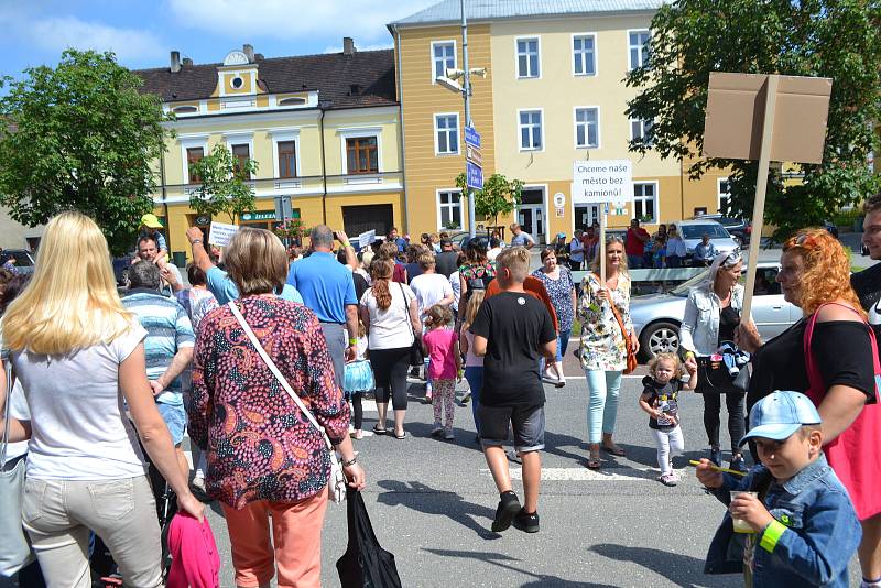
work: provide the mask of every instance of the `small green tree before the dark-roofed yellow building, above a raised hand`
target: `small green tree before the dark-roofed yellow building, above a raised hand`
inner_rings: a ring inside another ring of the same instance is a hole
[[[257,162],[239,160],[226,145],[218,144],[211,153],[193,166],[199,186],[189,197],[189,207],[199,215],[226,213],[237,222],[242,213],[254,208],[254,188],[250,177]]]

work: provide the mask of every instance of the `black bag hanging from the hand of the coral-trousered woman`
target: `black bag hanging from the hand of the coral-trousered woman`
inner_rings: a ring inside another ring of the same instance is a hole
[[[394,555],[377,541],[361,492],[349,488],[347,498],[349,545],[337,559],[342,588],[402,588]]]

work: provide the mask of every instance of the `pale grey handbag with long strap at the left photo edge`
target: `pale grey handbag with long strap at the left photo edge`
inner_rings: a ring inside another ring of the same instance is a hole
[[[7,373],[7,402],[3,411],[3,437],[0,447],[0,575],[12,576],[33,562],[31,544],[21,526],[21,504],[24,498],[24,468],[26,460],[19,459],[7,471],[7,449],[9,448],[9,417],[12,404],[12,370],[3,361]]]

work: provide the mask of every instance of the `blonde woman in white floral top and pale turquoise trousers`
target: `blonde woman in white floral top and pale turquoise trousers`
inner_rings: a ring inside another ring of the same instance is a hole
[[[621,374],[627,368],[627,344],[639,349],[630,320],[630,276],[627,273],[624,243],[618,237],[606,238],[606,280],[600,281],[599,253],[592,263],[592,272],[581,281],[581,298],[578,317],[581,320],[581,368],[587,378],[590,400],[587,406],[587,436],[590,456],[587,467],[600,467],[600,431],[602,449],[623,456],[624,451],[612,440],[614,420],[618,413],[618,391]],[[614,317],[609,298],[624,323],[624,330]]]

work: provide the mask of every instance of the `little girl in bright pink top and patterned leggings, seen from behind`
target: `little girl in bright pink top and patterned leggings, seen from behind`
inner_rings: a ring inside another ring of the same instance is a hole
[[[422,337],[422,346],[428,362],[428,375],[434,383],[434,427],[432,435],[444,434],[444,438],[456,438],[453,434],[453,410],[456,405],[456,377],[461,367],[459,338],[447,325],[453,320],[453,313],[447,306],[435,304],[425,313],[425,328],[428,331]],[[446,413],[444,425],[440,425],[440,413]]]

